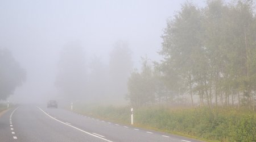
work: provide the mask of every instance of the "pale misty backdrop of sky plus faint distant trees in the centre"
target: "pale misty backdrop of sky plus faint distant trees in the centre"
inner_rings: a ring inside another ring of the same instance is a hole
[[[163,28],[184,2],[0,1],[0,48],[9,49],[26,70],[26,82],[7,100],[29,103],[61,99],[72,89],[60,91],[58,81],[65,76],[64,68],[70,69],[65,60],[74,59],[84,65],[77,71],[84,70],[87,81],[74,86],[87,85],[86,95],[110,93],[107,98],[125,101],[129,72],[140,68],[141,57],[160,60]],[[193,2],[199,6],[205,3]],[[123,64],[123,56],[115,56],[122,50],[127,51],[129,60]],[[123,74],[118,76],[119,68]],[[97,99],[100,97],[92,98]]]

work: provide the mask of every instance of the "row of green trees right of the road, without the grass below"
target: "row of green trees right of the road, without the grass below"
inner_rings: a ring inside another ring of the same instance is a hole
[[[255,14],[253,1],[207,1],[204,7],[184,3],[164,28],[163,60],[148,64],[143,59],[141,71],[131,73],[131,105],[181,101],[254,109]]]

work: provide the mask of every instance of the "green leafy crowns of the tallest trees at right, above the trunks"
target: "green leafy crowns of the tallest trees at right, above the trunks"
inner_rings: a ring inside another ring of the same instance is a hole
[[[217,0],[207,1],[200,9],[184,3],[174,18],[168,19],[162,36],[160,72],[163,78],[178,77],[166,81],[171,85],[168,88],[183,88],[192,104],[197,94],[201,105],[206,99],[212,107],[214,94],[216,105],[218,100],[230,105],[230,96],[234,104],[234,96],[242,92],[246,105],[252,105],[256,77],[254,4]],[[174,87],[174,82],[182,83]]]

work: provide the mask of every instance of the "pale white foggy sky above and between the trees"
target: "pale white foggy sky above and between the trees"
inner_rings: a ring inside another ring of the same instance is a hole
[[[61,47],[78,41],[87,59],[108,62],[117,40],[127,41],[134,66],[141,56],[159,60],[166,20],[183,1],[6,0],[0,1],[0,48],[9,48],[26,69],[27,81],[10,98],[42,99],[55,94],[53,82]],[[193,1],[203,5],[204,1]]]

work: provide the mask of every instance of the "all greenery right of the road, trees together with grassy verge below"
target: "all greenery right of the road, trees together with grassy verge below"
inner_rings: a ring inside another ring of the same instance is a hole
[[[133,107],[135,126],[210,141],[256,141],[255,12],[254,1],[184,3],[167,20],[162,60],[144,57],[142,68],[131,72],[130,107],[75,111],[129,124]]]

